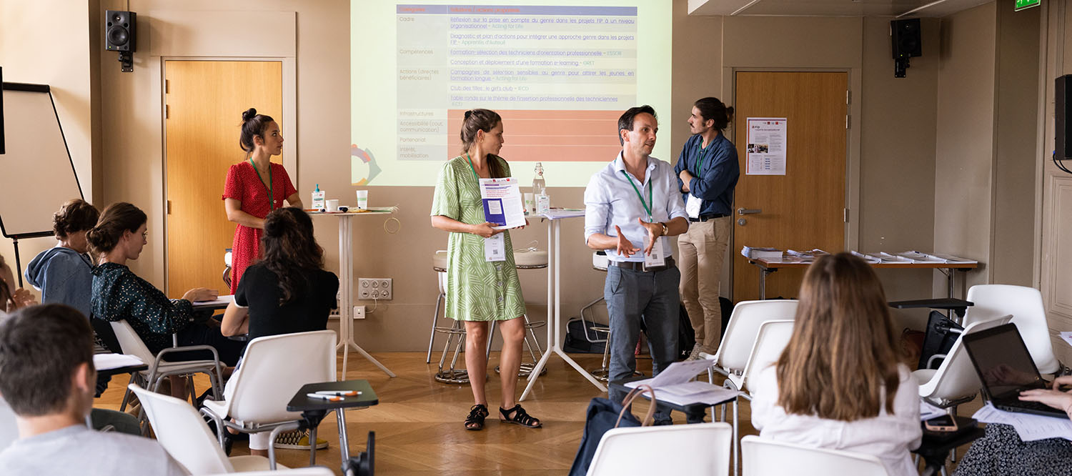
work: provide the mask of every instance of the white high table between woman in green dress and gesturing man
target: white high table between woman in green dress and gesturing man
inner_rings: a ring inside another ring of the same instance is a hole
[[[550,222],[547,227],[547,352],[544,353],[544,356],[540,357],[539,361],[536,362],[536,367],[534,367],[532,372],[528,374],[528,385],[525,386],[525,391],[521,393],[521,398],[518,399],[518,401],[523,402],[525,398],[528,397],[528,392],[531,392],[533,386],[536,385],[536,378],[539,377],[540,372],[544,371],[544,367],[547,366],[547,361],[551,358],[552,354],[557,354],[559,357],[562,357],[563,360],[576,369],[581,376],[587,378],[589,382],[591,382],[592,385],[595,385],[600,391],[607,391],[607,387],[604,387],[602,384],[592,376],[591,373],[566,355],[560,345],[560,342],[562,341],[559,333],[562,321],[562,292],[560,289],[560,278],[562,274],[562,259],[560,251],[562,249],[562,243],[560,240],[561,228],[559,221],[584,217],[584,210],[554,209],[548,213],[534,217],[539,217]]]

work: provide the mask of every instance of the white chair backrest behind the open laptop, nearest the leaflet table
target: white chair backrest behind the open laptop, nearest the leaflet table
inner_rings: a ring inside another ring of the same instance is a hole
[[[1024,338],[1039,372],[1057,373],[1060,370],[1060,363],[1054,356],[1054,343],[1049,339],[1049,325],[1046,324],[1046,311],[1042,307],[1039,289],[1009,284],[980,284],[968,289],[968,300],[974,306],[968,308],[964,316],[965,326],[1012,314],[1012,323]]]

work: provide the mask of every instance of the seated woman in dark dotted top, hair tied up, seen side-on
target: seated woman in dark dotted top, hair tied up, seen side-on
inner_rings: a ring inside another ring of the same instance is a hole
[[[172,346],[172,333],[178,334],[179,345],[211,345],[220,360],[234,366],[242,355],[245,344],[232,341],[220,333],[219,323],[210,314],[196,313],[194,301],[214,299],[217,292],[195,287],[182,299],[168,299],[163,292],[138,278],[126,267],[129,259],[137,259],[145,247],[146,214],[128,203],[111,204],[104,209],[100,221],[87,234],[89,244],[100,259],[93,268],[93,317],[104,321],[125,319],[153,354]],[[168,355],[166,360],[193,360],[211,358],[205,352]],[[173,395],[182,395],[172,382]]]

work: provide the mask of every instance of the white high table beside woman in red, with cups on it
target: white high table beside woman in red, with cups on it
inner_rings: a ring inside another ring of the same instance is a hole
[[[368,211],[347,211],[345,213],[309,213],[312,217],[336,217],[339,219],[339,289],[342,292],[342,299],[339,302],[339,345],[342,347],[342,378],[346,378],[346,361],[349,358],[349,348],[354,347],[358,354],[368,359],[383,370],[388,376],[393,377],[394,372],[379,363],[368,352],[364,352],[357,342],[354,341],[354,234],[351,220],[354,217],[383,217],[398,211],[398,207],[369,207]]]

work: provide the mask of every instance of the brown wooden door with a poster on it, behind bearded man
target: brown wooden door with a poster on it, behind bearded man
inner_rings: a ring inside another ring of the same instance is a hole
[[[847,73],[739,72],[733,122],[741,179],[734,194],[733,301],[759,298],[759,269],[741,247],[845,248]],[[787,119],[786,175],[746,175],[749,117]],[[760,209],[755,214],[738,210]],[[744,224],[740,220],[744,219]],[[795,297],[804,269],[766,278],[766,297]]]

